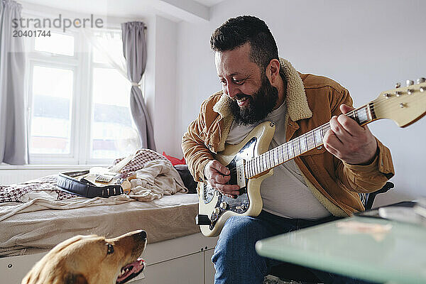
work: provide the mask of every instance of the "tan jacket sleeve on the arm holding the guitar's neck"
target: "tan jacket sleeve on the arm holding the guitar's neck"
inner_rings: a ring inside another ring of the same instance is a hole
[[[352,106],[352,99],[347,89],[335,92],[332,98],[332,116],[342,114],[341,104]],[[353,192],[374,192],[381,189],[386,181],[393,177],[391,151],[376,138],[378,151],[376,158],[369,165],[351,165],[334,157],[336,176],[339,182]]]

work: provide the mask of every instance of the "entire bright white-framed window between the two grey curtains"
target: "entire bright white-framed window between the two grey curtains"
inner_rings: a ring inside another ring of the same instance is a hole
[[[26,86],[30,163],[109,163],[139,147],[131,84],[82,31],[28,38]],[[117,62],[121,31],[97,31]]]

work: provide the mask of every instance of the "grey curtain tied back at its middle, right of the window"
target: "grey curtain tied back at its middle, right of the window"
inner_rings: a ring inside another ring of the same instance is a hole
[[[123,53],[126,58],[127,77],[131,81],[130,109],[141,139],[142,148],[155,151],[153,124],[143,101],[141,82],[146,67],[145,25],[142,22],[121,23]]]

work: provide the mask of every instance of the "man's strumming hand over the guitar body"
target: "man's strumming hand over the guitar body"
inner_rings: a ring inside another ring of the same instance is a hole
[[[204,167],[204,177],[212,187],[226,196],[236,198],[239,195],[239,185],[226,185],[226,182],[231,179],[229,174],[229,169],[219,160],[211,160]]]

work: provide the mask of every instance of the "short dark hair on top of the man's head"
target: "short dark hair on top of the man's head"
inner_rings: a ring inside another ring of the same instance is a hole
[[[233,50],[245,43],[250,43],[250,60],[262,70],[271,60],[278,60],[278,48],[271,31],[264,21],[254,16],[229,18],[210,38],[214,51]]]

